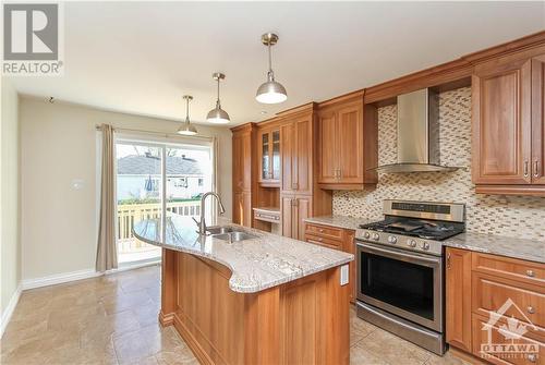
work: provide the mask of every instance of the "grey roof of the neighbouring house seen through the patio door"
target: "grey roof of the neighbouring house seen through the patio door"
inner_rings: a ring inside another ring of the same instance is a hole
[[[149,175],[160,174],[160,159],[148,156],[130,155],[118,160],[118,174]],[[167,174],[202,175],[198,162],[192,158],[167,156]]]

